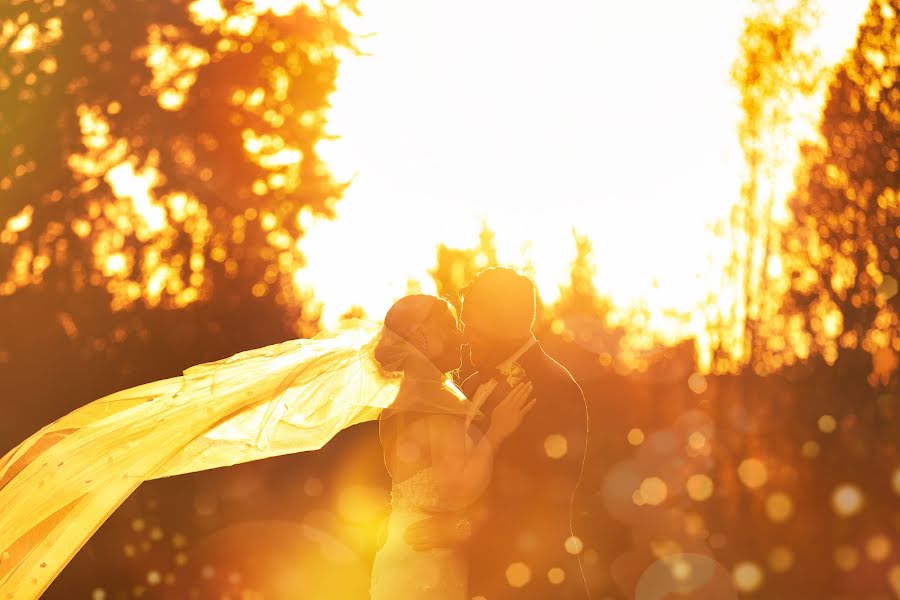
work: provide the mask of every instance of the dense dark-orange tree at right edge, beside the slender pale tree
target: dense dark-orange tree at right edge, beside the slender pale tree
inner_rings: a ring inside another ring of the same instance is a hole
[[[864,361],[873,385],[896,377],[900,91],[896,0],[874,0],[828,90],[822,144],[804,148],[782,243],[792,282],[790,350]]]

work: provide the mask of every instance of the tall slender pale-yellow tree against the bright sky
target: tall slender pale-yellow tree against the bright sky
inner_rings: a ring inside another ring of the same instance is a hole
[[[741,92],[739,139],[746,172],[741,202],[729,223],[732,255],[728,277],[736,290],[730,315],[712,335],[714,366],[726,370],[749,365],[772,370],[767,359],[767,324],[778,312],[779,285],[773,276],[778,243],[777,203],[789,193],[794,144],[810,116],[797,107],[819,91],[822,70],[806,44],[816,12],[809,0],[779,10],[774,0],[756,0],[740,38],[732,77]]]

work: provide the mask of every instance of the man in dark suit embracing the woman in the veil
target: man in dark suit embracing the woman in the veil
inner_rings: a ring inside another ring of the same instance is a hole
[[[481,500],[464,514],[413,524],[406,539],[421,550],[465,542],[473,599],[586,599],[583,544],[572,529],[587,444],[584,395],[532,333],[530,279],[511,269],[487,269],[462,298],[460,318],[478,369],[463,391],[487,418],[522,380],[534,384],[537,404],[494,457]],[[469,433],[477,438],[486,429],[476,420]]]

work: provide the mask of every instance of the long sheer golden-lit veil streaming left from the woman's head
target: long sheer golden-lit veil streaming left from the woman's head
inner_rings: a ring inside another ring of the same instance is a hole
[[[385,344],[385,336],[392,336]],[[143,481],[316,450],[378,418],[409,345],[381,323],[344,321],[105,396],[0,459],[0,600],[37,598]],[[416,410],[479,411],[449,377]]]

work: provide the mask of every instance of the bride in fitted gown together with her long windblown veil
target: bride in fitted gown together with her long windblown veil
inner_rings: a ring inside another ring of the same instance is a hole
[[[143,482],[316,450],[378,419],[393,479],[373,598],[464,598],[461,548],[417,552],[407,525],[474,501],[493,450],[533,406],[527,386],[482,416],[452,382],[461,338],[449,304],[398,301],[383,324],[348,320],[296,339],[196,365],[95,400],[0,458],[0,600],[38,598]],[[460,539],[468,524],[461,522]]]

